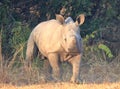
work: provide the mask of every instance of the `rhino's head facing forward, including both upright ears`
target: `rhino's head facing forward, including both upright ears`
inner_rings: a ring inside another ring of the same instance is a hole
[[[74,22],[71,17],[64,20],[61,15],[56,15],[56,20],[58,20],[62,26],[62,37],[61,45],[68,53],[81,53],[82,52],[82,38],[80,36],[79,26],[84,23],[85,16],[83,14],[79,15]]]

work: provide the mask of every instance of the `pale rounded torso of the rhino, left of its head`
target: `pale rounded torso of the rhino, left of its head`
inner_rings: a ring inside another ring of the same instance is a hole
[[[60,39],[63,26],[56,20],[38,24],[33,30],[33,38],[39,51],[47,56],[49,52],[61,50]]]

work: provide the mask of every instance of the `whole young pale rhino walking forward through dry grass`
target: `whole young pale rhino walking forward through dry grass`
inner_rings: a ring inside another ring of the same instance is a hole
[[[84,20],[84,14],[80,14],[75,22],[71,17],[64,19],[62,15],[57,14],[56,19],[39,23],[32,30],[27,42],[27,63],[30,64],[39,51],[47,58],[46,70],[51,73],[51,68],[54,79],[60,79],[61,63],[68,62],[72,65],[70,82],[78,83],[83,50],[79,26],[84,23]]]

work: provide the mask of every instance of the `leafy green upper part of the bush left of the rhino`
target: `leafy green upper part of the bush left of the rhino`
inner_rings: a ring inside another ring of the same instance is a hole
[[[11,30],[10,44],[13,49],[17,49],[20,45],[24,45],[29,37],[30,29],[27,24],[15,22]]]

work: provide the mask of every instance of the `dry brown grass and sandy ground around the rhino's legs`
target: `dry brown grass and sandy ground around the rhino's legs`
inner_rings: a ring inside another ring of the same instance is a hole
[[[42,62],[42,61],[39,61]],[[41,63],[40,63],[41,64]],[[43,83],[43,69],[35,66],[25,71],[22,66],[0,66],[0,89],[120,89],[120,60],[108,63],[105,60],[90,59],[81,62],[82,84],[68,83],[71,66],[63,63],[63,82]]]

